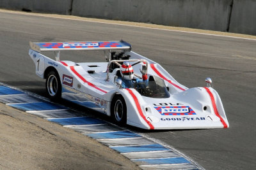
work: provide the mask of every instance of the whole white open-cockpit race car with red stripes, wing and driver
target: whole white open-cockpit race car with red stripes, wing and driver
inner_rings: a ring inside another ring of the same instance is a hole
[[[156,62],[131,51],[125,41],[30,42],[36,74],[50,99],[62,97],[142,129],[227,128],[216,90],[188,89]],[[102,50],[106,62],[60,60],[62,50]],[[56,60],[40,52],[56,51]]]

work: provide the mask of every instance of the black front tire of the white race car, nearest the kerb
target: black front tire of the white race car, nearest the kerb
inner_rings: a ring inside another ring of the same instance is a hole
[[[125,125],[127,122],[127,108],[124,97],[116,95],[111,102],[111,117],[116,124]]]

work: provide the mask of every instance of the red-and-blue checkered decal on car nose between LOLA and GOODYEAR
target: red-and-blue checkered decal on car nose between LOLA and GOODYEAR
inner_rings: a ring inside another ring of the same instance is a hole
[[[154,108],[161,115],[196,115],[189,106],[158,106]]]

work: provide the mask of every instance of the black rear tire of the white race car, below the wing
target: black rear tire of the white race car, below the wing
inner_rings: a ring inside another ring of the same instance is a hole
[[[46,75],[45,89],[47,96],[52,100],[60,99],[61,97],[61,81],[57,71],[49,71]]]

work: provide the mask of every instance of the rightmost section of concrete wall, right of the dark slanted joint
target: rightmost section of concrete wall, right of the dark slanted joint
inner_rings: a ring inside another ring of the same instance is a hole
[[[229,31],[256,35],[256,0],[234,0]]]

